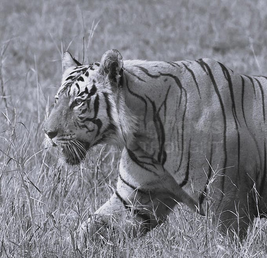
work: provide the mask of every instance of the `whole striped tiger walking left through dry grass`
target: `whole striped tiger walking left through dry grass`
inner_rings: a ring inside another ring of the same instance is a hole
[[[223,232],[240,237],[264,216],[266,76],[210,58],[123,60],[116,49],[87,65],[65,52],[62,63],[44,122],[50,144],[71,165],[97,144],[122,146],[116,189],[83,221],[84,237],[123,214],[132,214],[134,235],[143,234],[179,202],[196,215],[211,210]]]

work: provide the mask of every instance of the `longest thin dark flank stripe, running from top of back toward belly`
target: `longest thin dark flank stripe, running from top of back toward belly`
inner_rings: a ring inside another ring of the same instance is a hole
[[[212,71],[209,67],[209,65],[203,61],[203,59],[199,59],[197,60],[197,62],[199,62],[199,64],[203,67],[205,67],[205,69],[207,70],[208,72],[208,75],[211,79],[211,82],[213,84],[213,87],[215,89],[215,92],[217,94],[217,97],[219,99],[219,102],[220,102],[220,106],[221,106],[221,111],[222,111],[222,117],[223,117],[223,152],[224,152],[224,164],[223,164],[223,169],[222,169],[222,176],[221,176],[221,197],[220,197],[220,202],[224,196],[224,181],[225,181],[225,169],[226,169],[226,164],[227,164],[227,151],[226,151],[226,129],[227,129],[227,124],[226,124],[226,115],[225,115],[225,110],[224,110],[224,106],[223,106],[223,102],[222,102],[222,98],[221,98],[221,95],[220,95],[220,92],[219,92],[219,89],[218,89],[218,86],[217,86],[217,83],[214,79],[214,76],[212,74]],[[204,69],[204,68],[203,68]]]

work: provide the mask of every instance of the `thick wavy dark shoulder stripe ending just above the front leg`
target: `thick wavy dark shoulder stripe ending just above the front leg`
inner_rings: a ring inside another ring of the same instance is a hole
[[[150,101],[152,108],[153,108],[153,122],[156,128],[157,136],[158,136],[158,144],[159,144],[159,152],[158,152],[158,161],[162,165],[166,162],[166,151],[164,149],[165,144],[165,130],[163,123],[161,121],[159,111],[156,109],[156,104],[152,101],[147,95],[147,99]]]

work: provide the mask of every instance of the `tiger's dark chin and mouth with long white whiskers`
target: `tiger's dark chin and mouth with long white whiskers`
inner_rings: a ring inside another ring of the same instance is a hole
[[[77,165],[85,159],[90,144],[88,142],[72,140],[60,144],[60,147],[66,163]]]

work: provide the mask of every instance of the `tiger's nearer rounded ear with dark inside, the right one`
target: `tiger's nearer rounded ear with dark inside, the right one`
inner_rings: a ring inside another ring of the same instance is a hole
[[[107,50],[101,58],[99,70],[110,80],[117,82],[117,78],[121,75],[123,60],[117,49]]]

